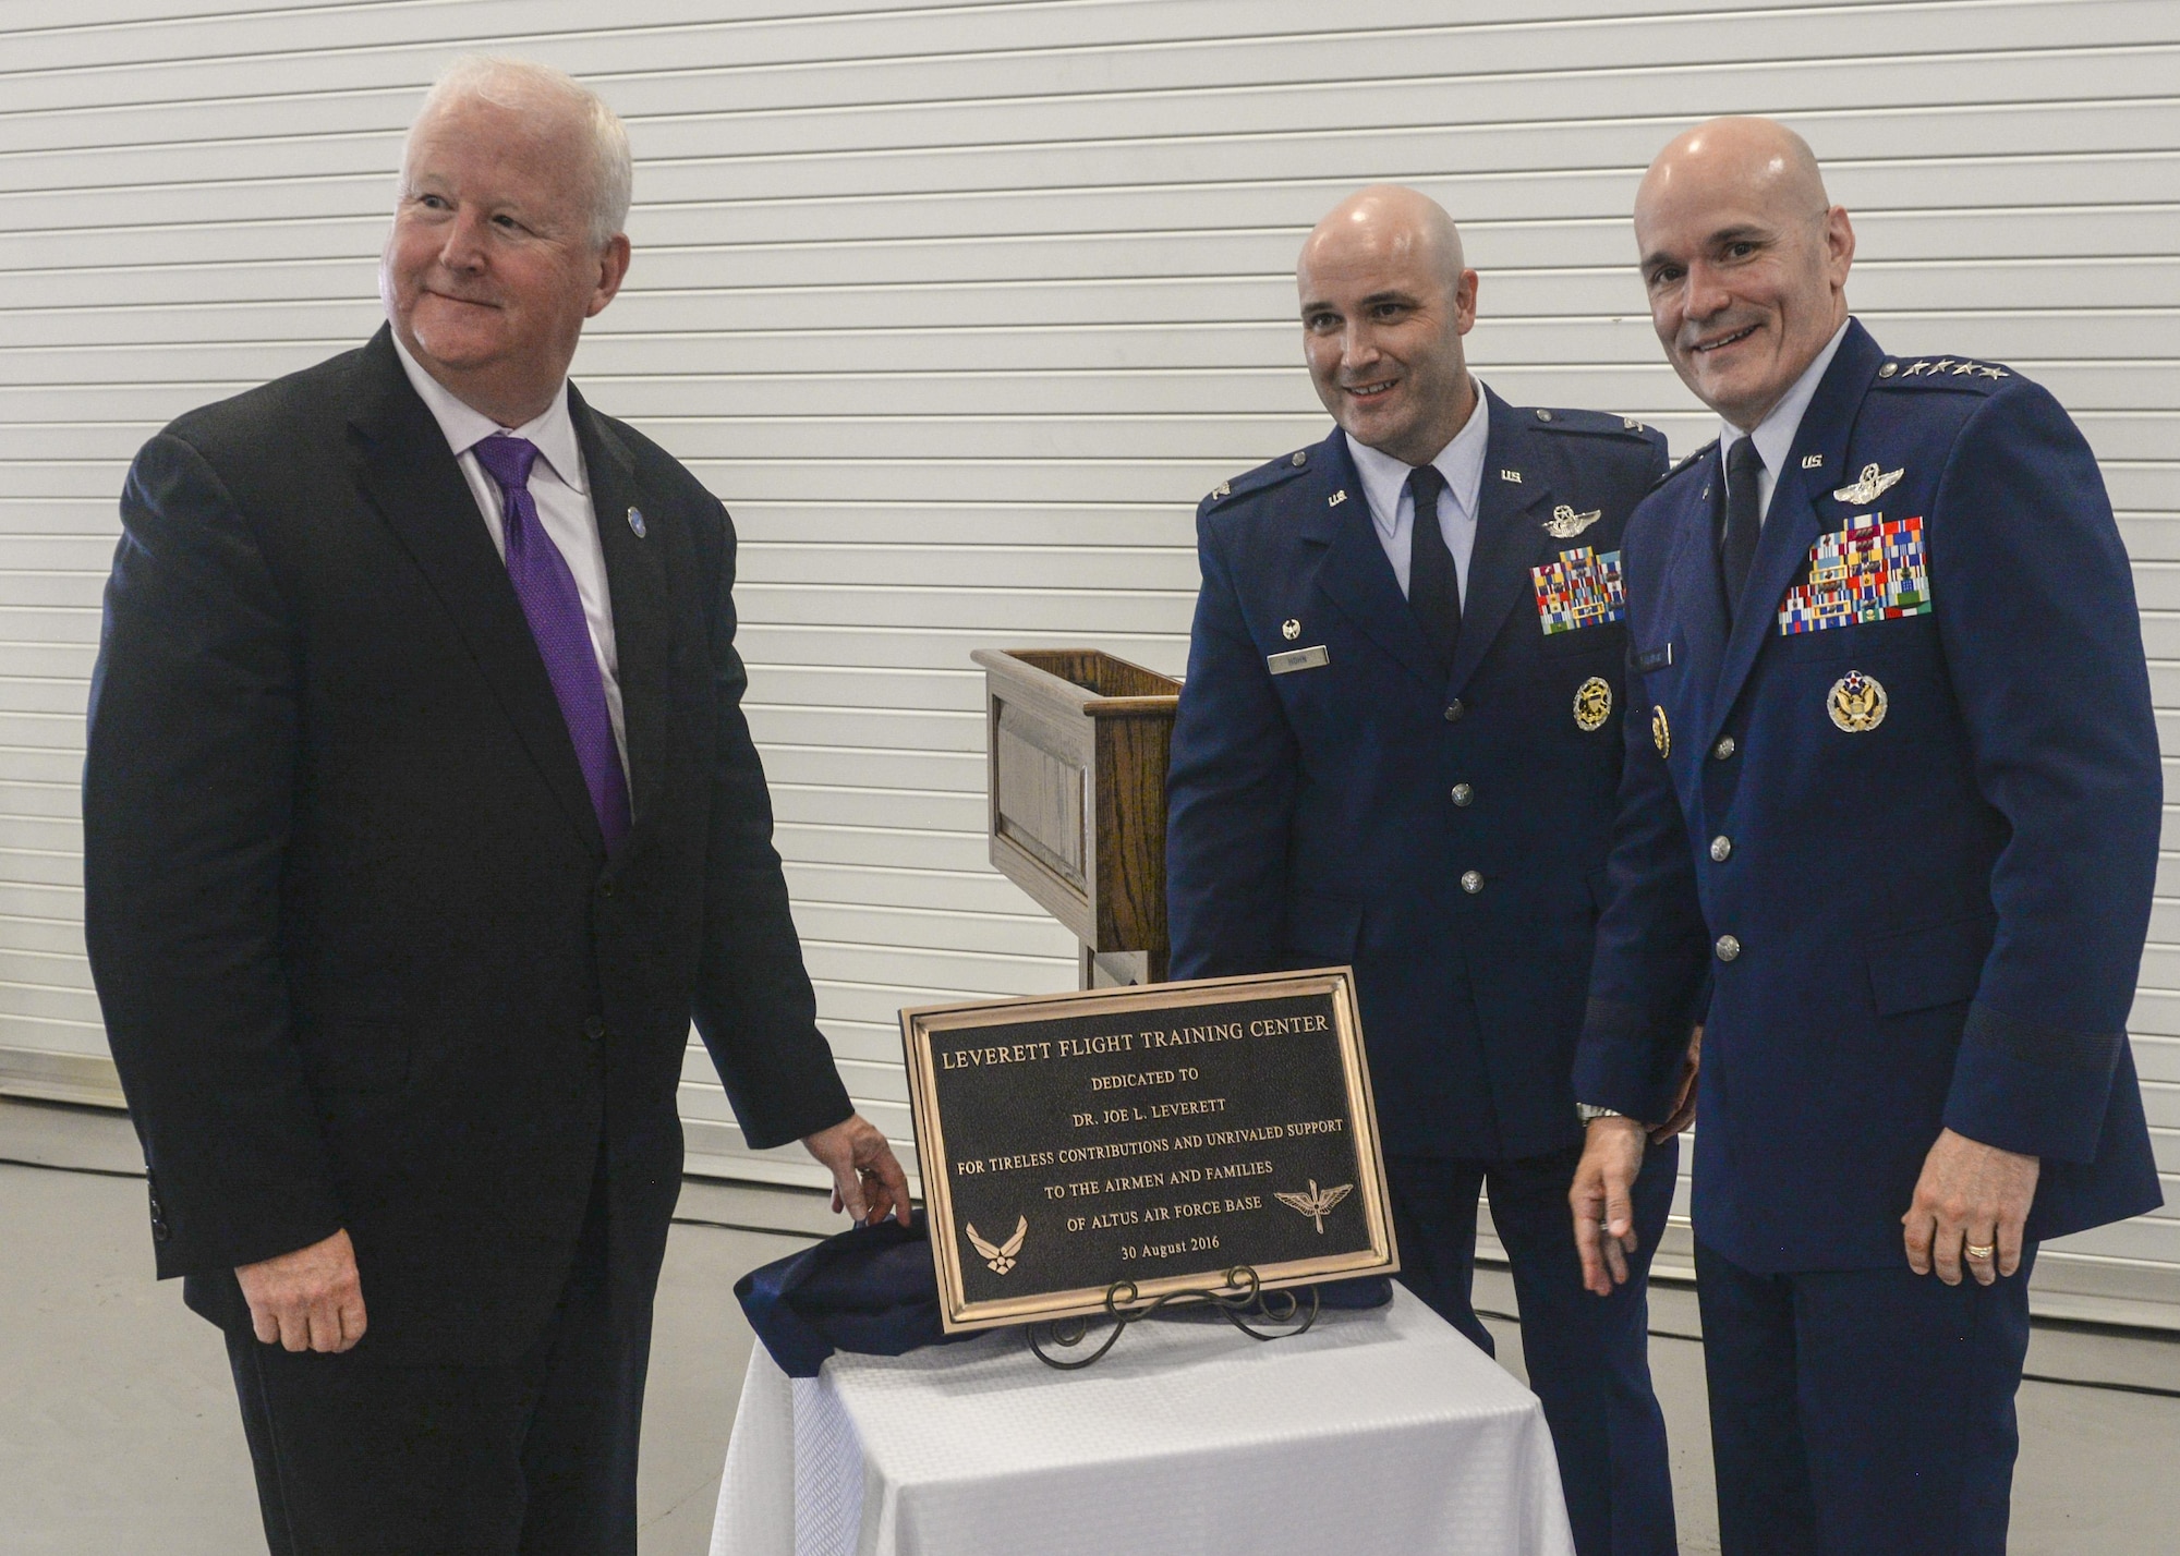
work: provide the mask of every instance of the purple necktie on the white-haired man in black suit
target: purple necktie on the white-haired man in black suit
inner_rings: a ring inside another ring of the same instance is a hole
[[[508,540],[508,582],[514,584],[514,597],[530,619],[530,636],[536,639],[538,654],[545,658],[552,695],[560,700],[560,717],[567,719],[569,739],[576,741],[582,782],[591,789],[597,830],[604,832],[610,850],[628,837],[628,778],[621,774],[621,752],[613,743],[606,678],[597,669],[597,654],[591,652],[591,625],[582,615],[582,593],[576,588],[576,575],[567,571],[560,547],[538,523],[538,506],[530,497],[530,466],[536,464],[538,447],[528,438],[495,431],[471,453],[506,493],[501,514]]]

